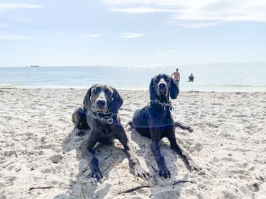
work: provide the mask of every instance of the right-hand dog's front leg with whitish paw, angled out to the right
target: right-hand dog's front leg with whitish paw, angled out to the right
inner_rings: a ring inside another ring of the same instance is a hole
[[[174,152],[176,152],[177,154],[179,154],[180,157],[182,157],[182,160],[186,164],[187,168],[190,171],[193,171],[193,170],[199,171],[200,170],[199,166],[197,166],[192,160],[192,158],[189,156],[189,154],[187,154],[187,152],[184,152],[184,150],[181,149],[179,145],[177,144],[174,131],[170,133],[170,137],[168,137],[168,139],[170,141],[170,147],[174,150]]]

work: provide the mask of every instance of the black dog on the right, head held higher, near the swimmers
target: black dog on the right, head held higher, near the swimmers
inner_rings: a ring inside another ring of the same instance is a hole
[[[159,141],[162,137],[167,137],[170,141],[170,147],[179,154],[190,170],[198,170],[189,154],[184,152],[177,144],[174,123],[171,110],[172,104],[170,98],[175,99],[179,94],[177,84],[166,74],[158,74],[150,81],[150,103],[140,110],[136,110],[133,120],[130,123],[141,135],[152,139],[152,151],[159,168],[159,176],[170,178],[171,174],[165,164],[159,147]]]

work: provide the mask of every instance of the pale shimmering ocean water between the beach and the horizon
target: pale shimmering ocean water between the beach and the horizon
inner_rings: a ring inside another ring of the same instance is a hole
[[[1,87],[79,88],[96,83],[116,89],[148,90],[150,79],[179,68],[181,91],[266,91],[266,63],[160,66],[0,67]],[[194,82],[187,82],[189,74]]]

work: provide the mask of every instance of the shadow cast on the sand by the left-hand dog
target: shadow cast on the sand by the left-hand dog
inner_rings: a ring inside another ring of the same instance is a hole
[[[77,159],[79,160],[79,172],[76,178],[71,181],[69,189],[66,194],[55,196],[54,199],[91,199],[104,198],[109,189],[110,183],[100,183],[90,176],[90,169],[88,162],[82,157],[81,146],[84,140],[87,140],[88,131],[83,137],[75,135],[74,130],[67,137],[63,143],[63,153],[67,153],[75,149],[77,151]],[[99,159],[99,169],[104,178],[109,178],[109,172],[113,169],[113,165],[118,165],[126,159],[126,154],[123,149],[115,147],[114,144],[96,144],[96,154]],[[101,184],[101,188],[98,186]],[[99,195],[101,195],[99,197]]]

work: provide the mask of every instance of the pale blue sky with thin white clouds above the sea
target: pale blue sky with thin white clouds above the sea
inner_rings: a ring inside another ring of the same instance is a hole
[[[0,0],[0,67],[266,62],[265,0]]]

